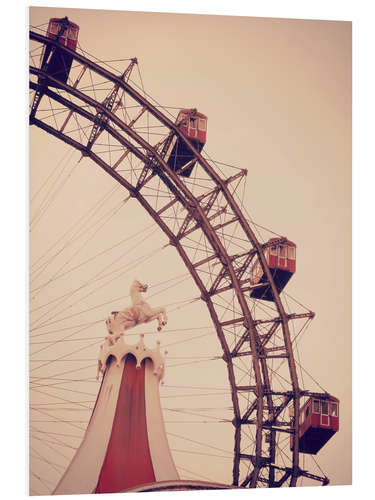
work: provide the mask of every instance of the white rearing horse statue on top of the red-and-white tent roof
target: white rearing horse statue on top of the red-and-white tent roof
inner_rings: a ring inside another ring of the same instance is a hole
[[[167,312],[165,307],[152,309],[146,301],[143,300],[141,293],[147,292],[148,285],[134,280],[130,287],[130,297],[132,305],[122,311],[112,311],[106,320],[108,336],[106,340],[109,345],[113,345],[124,335],[125,330],[134,328],[141,323],[158,321],[158,332],[167,324]]]

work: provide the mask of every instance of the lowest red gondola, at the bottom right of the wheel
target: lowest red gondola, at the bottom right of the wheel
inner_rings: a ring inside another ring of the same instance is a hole
[[[315,455],[339,430],[339,400],[326,395],[310,397],[300,409],[299,421],[299,451]]]

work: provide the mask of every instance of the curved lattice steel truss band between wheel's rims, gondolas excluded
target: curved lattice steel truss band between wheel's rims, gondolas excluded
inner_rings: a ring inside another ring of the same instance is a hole
[[[298,439],[289,448],[290,437],[298,436],[300,398],[308,394],[299,386],[294,344],[314,313],[299,306],[286,312],[264,257],[267,243],[238,201],[247,171],[223,177],[221,165],[194,149],[174,118],[130,83],[136,59],[121,73],[60,47],[74,59],[64,84],[39,68],[43,44],[57,42],[33,31],[30,40],[30,124],[89,157],[138,200],[207,306],[231,387],[233,485],[295,486],[301,476],[327,484],[326,477],[300,468]],[[190,178],[163,160],[171,134],[194,155]],[[256,258],[274,302],[250,298],[249,268]]]

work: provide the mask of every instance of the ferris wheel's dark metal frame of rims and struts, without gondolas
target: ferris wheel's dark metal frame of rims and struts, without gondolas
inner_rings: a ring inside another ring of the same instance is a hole
[[[285,311],[265,258],[267,243],[258,241],[254,229],[231,190],[231,185],[241,180],[247,171],[239,170],[228,178],[219,175],[215,166],[193,147],[172,119],[129,83],[128,77],[137,64],[136,59],[130,61],[128,68],[121,75],[117,75],[82,53],[70,50],[41,33],[30,31],[30,40],[41,44],[41,47],[58,47],[69,54],[73,58],[76,74],[82,75],[90,71],[107,82],[107,88],[110,89],[107,97],[98,100],[79,88],[79,76],[74,83],[65,84],[37,65],[30,64],[30,125],[36,125],[80,151],[121,184],[165,233],[170,245],[176,249],[189,271],[215,326],[223,351],[222,358],[227,367],[234,414],[233,486],[293,487],[297,485],[300,477],[316,480],[323,485],[328,484],[327,477],[309,473],[300,467],[298,449],[300,399],[313,393],[304,391],[299,386],[289,323],[298,319],[311,320],[314,313]],[[116,106],[121,106],[119,92],[138,106],[132,119],[121,119],[119,114],[116,114]],[[64,110],[65,119],[59,126],[53,126],[53,120],[47,119],[45,114],[40,114],[39,104],[43,96],[56,102]],[[164,139],[156,144],[151,144],[135,127],[137,120],[145,114],[164,130]],[[88,128],[87,133],[81,133],[79,137],[69,134],[67,124],[73,115],[90,124],[91,128]],[[103,131],[118,145],[117,149],[120,151],[112,163],[94,148],[95,141]],[[193,193],[188,182],[163,159],[162,147],[171,134],[185,143],[196,165],[205,174],[204,192],[200,195]],[[128,155],[142,165],[137,176],[131,178],[122,175],[118,169]],[[145,187],[155,179],[158,179],[163,184],[163,189],[169,193],[168,201],[162,207],[157,207],[152,199],[144,194]],[[171,222],[171,211],[174,214],[178,212],[178,224],[177,216],[173,223]],[[183,215],[180,216],[181,214]],[[218,223],[218,218],[223,214],[226,219]],[[243,239],[247,240],[244,251],[233,254],[226,248],[220,231],[229,226],[238,228],[244,236]],[[206,257],[194,261],[186,243],[186,237],[192,233],[199,234],[208,249]],[[283,241],[284,239],[280,238],[280,242]],[[254,317],[249,303],[249,279],[246,272],[255,259],[259,260],[272,290],[276,314],[271,318]],[[231,295],[234,307],[230,319],[223,321],[222,311],[218,308],[216,299],[225,294]],[[280,333],[277,345],[269,347],[277,332]],[[241,381],[242,378],[236,374],[235,363],[239,358],[242,361],[249,360],[247,366],[254,380],[251,385],[245,385]],[[287,363],[288,390],[273,387],[269,363],[275,359]],[[244,398],[241,399],[243,394],[246,395],[245,407]],[[291,416],[288,418],[286,414],[289,409]],[[245,430],[248,426],[255,428],[252,453],[245,452],[242,446],[243,441],[247,439]],[[291,462],[288,465],[277,458],[277,437],[281,434],[292,436],[294,440]],[[240,472],[242,465],[245,466],[242,470],[247,470],[246,474]]]

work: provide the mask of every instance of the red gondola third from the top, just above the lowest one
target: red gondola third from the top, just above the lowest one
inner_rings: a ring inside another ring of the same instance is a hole
[[[268,267],[270,268],[277,291],[280,293],[290,278],[296,271],[296,245],[292,241],[285,240],[279,242],[279,238],[271,238],[264,251]],[[272,244],[274,242],[274,244]],[[276,243],[279,242],[279,243]],[[270,285],[262,283],[267,282],[267,276],[257,259],[250,269],[250,296],[256,299],[273,301],[273,294]]]

